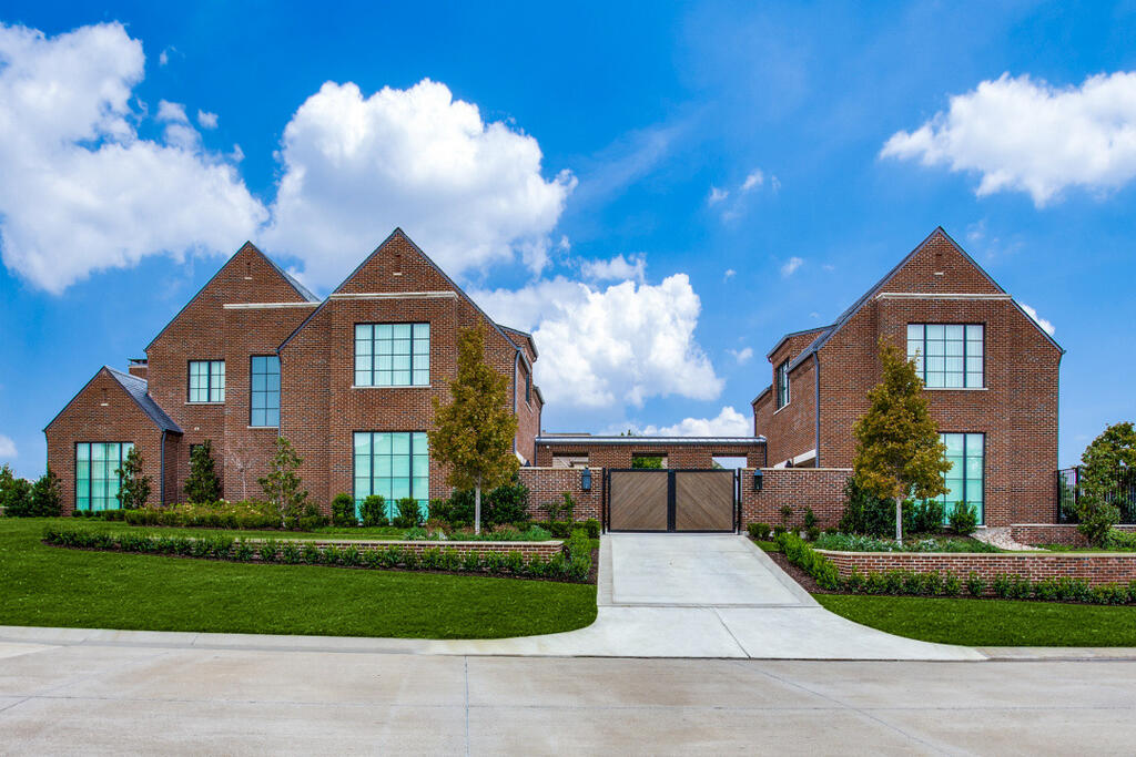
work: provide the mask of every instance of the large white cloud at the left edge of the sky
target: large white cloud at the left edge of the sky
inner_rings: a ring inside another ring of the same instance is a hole
[[[0,245],[35,286],[58,294],[148,255],[232,252],[267,217],[181,106],[159,107],[162,140],[139,138],[130,102],[144,62],[120,24],[50,39],[0,24]]]

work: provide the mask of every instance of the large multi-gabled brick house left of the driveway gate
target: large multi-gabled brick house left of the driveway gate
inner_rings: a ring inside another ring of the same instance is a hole
[[[206,439],[226,498],[254,497],[278,436],[324,508],[341,491],[448,496],[425,432],[431,399],[457,375],[458,331],[477,323],[509,378],[515,452],[529,463],[543,406],[532,337],[491,320],[401,229],[325,300],[245,243],[130,373],[100,369],[47,426],[64,510],[117,507],[115,470],[132,446],[151,499],[179,502]]]

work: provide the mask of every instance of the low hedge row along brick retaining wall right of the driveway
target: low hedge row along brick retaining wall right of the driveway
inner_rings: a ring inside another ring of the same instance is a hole
[[[1093,587],[1085,580],[1068,577],[1030,581],[1022,575],[1000,574],[987,586],[987,582],[974,572],[962,579],[953,573],[938,571],[860,573],[855,570],[846,579],[842,579],[836,565],[799,536],[782,533],[777,537],[777,545],[791,563],[816,579],[818,586],[830,591],[912,597],[958,597],[966,591],[971,597],[982,597],[988,588],[1000,599],[1081,602],[1096,605],[1136,604],[1136,581],[1130,581],[1127,586],[1103,583]]]

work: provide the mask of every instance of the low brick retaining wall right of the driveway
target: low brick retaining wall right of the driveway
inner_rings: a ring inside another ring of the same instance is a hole
[[[1091,586],[1101,583],[1128,583],[1136,580],[1136,555],[1089,554],[1089,553],[1002,553],[1002,554],[957,554],[957,553],[903,553],[903,552],[829,552],[819,554],[835,563],[842,577],[860,573],[885,573],[887,571],[913,571],[916,573],[953,573],[966,580],[971,572],[977,573],[987,584],[997,575],[1021,575],[1030,581],[1049,578],[1074,578],[1088,581]]]

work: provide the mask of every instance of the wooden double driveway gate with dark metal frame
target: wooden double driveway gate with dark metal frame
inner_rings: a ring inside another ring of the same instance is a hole
[[[610,531],[730,532],[738,524],[733,470],[607,471]]]

